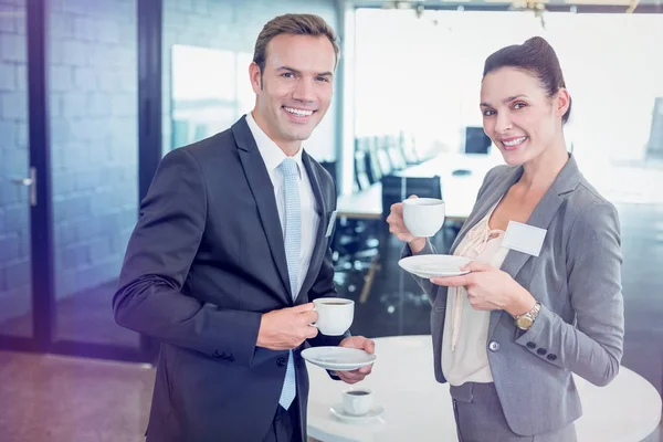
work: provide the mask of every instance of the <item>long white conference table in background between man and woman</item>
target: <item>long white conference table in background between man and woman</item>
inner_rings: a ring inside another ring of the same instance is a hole
[[[393,175],[410,178],[440,177],[445,219],[463,222],[474,207],[476,193],[484,176],[494,166],[503,164],[501,157],[483,154],[441,154],[417,166]],[[368,189],[341,194],[337,202],[337,217],[346,219],[379,220],[382,217],[382,186],[376,182]]]

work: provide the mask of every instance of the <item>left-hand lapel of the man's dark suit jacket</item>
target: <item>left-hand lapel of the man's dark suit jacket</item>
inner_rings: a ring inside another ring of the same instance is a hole
[[[251,129],[249,128],[245,118],[246,117],[242,117],[232,126],[232,133],[238,144],[238,152],[240,155],[242,167],[244,168],[244,176],[251,188],[251,193],[253,193],[253,198],[255,199],[260,221],[265,231],[267,243],[270,244],[272,260],[274,260],[274,264],[281,276],[281,282],[285,290],[284,293],[288,294],[288,299],[285,301],[288,304],[292,304],[293,297],[287,275],[285,245],[283,242],[278,209],[276,208],[276,199],[274,198],[274,186],[272,186],[270,173],[260,155],[260,150],[257,150],[255,139],[251,134]]]

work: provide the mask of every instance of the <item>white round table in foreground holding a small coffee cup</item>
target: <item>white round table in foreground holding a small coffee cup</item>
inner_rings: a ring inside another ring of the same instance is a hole
[[[346,423],[330,407],[340,403],[349,386],[329,378],[308,364],[308,435],[323,442],[453,441],[455,421],[449,383],[433,376],[433,349],[429,336],[376,338],[378,356],[372,373],[361,386],[372,389],[373,404],[385,407],[379,421]],[[578,441],[638,442],[661,420],[661,397],[644,378],[621,367],[608,387],[594,387],[575,377],[583,415],[576,421]]]

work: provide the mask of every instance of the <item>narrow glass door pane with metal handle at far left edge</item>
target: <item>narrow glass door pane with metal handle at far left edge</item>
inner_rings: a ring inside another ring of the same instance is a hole
[[[33,337],[25,4],[0,4],[0,343]]]

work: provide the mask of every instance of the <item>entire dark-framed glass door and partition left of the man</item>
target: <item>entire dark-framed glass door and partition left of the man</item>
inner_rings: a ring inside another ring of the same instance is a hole
[[[138,43],[160,33],[138,38],[139,6],[0,0],[0,349],[152,360],[112,308],[151,179]]]

